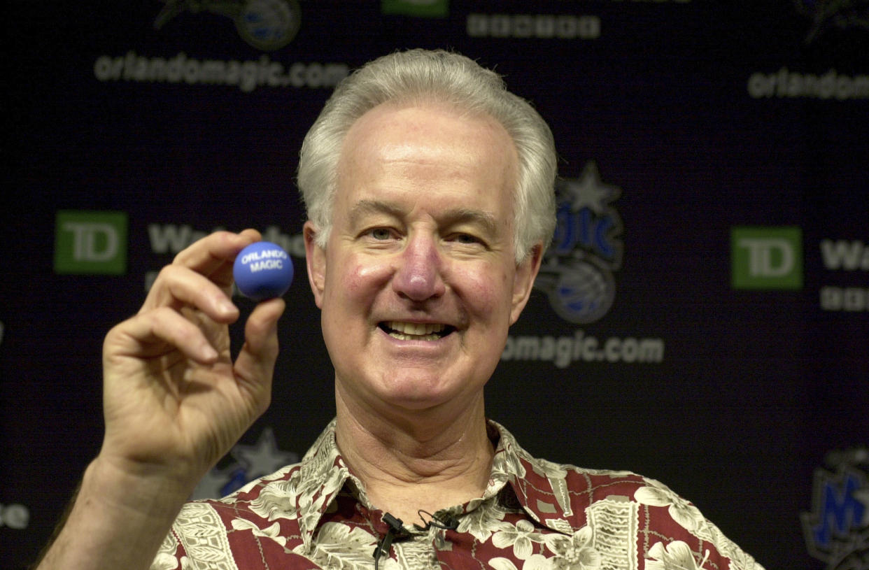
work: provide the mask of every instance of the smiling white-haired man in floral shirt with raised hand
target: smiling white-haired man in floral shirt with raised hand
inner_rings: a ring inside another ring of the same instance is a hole
[[[546,123],[468,58],[350,76],[299,168],[335,420],[301,463],[185,503],[268,405],[283,310],[260,303],[232,361],[231,264],[259,235],[196,242],[106,337],[103,449],[42,567],[760,569],[660,483],[534,459],[487,420],[554,176]]]

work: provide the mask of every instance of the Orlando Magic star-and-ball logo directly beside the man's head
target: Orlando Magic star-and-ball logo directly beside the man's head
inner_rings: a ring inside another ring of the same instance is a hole
[[[578,179],[556,185],[558,227],[534,287],[547,293],[565,321],[597,321],[613,304],[622,224],[612,202],[620,192],[601,182],[594,162],[587,162]]]

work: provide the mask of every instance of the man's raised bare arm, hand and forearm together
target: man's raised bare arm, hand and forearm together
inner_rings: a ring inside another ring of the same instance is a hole
[[[163,268],[103,343],[103,447],[39,570],[144,569],[196,483],[269,406],[281,299],[259,303],[232,360],[232,264],[260,239],[218,232]]]

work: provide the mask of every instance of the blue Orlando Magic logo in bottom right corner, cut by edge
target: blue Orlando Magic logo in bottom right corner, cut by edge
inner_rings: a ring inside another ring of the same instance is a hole
[[[827,570],[869,568],[869,449],[833,452],[814,475],[812,512],[802,514],[809,553]]]

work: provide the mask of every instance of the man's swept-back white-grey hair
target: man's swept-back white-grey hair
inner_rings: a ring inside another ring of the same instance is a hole
[[[408,50],[382,56],[338,85],[302,143],[298,184],[325,247],[332,228],[338,161],[344,137],[362,115],[382,103],[446,103],[491,116],[507,130],[519,156],[514,191],[514,248],[519,263],[534,244],[544,249],[555,229],[555,145],[547,123],[501,76],[466,56],[444,50]]]

